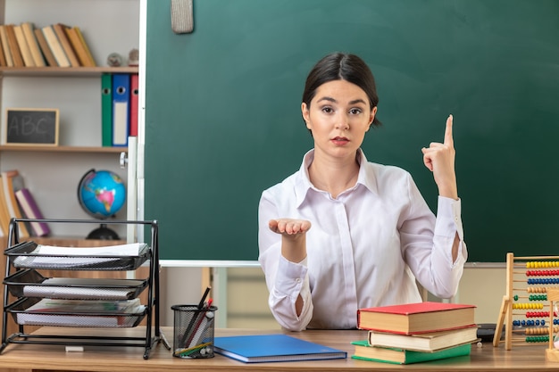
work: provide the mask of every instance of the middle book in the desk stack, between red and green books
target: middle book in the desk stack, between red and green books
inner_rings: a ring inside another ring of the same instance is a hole
[[[396,347],[413,351],[438,351],[462,343],[474,343],[478,340],[477,333],[477,326],[417,335],[369,331],[368,340],[371,346]]]

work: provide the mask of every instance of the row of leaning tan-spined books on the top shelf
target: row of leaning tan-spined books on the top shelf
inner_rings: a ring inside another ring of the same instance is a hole
[[[2,67],[96,67],[81,30],[55,23],[36,28],[34,23],[0,25]]]

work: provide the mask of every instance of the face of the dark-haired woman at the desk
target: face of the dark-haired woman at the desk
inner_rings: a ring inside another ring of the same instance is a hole
[[[355,156],[377,108],[370,109],[362,88],[346,80],[324,83],[310,107],[301,105],[306,128],[313,133],[315,153],[333,157]]]

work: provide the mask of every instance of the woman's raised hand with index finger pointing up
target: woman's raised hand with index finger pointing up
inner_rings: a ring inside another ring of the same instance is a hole
[[[431,142],[429,148],[423,147],[423,163],[433,172],[438,194],[458,199],[455,174],[455,143],[452,137],[453,117],[446,119],[445,140],[442,144]]]

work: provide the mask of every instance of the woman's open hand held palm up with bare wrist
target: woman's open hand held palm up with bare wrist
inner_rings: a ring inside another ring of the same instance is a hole
[[[301,262],[306,257],[306,232],[311,222],[305,219],[271,219],[268,227],[281,234],[281,255],[291,262]]]

